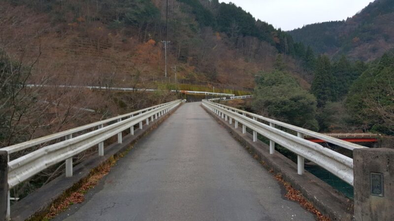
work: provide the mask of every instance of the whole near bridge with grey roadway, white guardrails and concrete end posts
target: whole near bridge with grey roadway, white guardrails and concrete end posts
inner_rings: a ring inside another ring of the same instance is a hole
[[[104,146],[114,136],[117,141]],[[306,136],[348,149],[353,158]],[[297,162],[278,153],[278,145]],[[212,100],[176,100],[1,148],[0,220],[37,216],[130,146],[83,203],[55,220],[315,220],[284,197],[272,172],[332,220],[394,218],[391,149],[366,148]],[[97,155],[73,162],[92,149]],[[306,171],[305,159],[354,186],[354,202]],[[10,190],[62,162],[64,175],[11,206]]]

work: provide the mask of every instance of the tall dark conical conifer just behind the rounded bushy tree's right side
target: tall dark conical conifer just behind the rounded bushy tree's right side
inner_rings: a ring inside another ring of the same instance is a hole
[[[317,98],[318,107],[324,107],[328,101],[336,97],[336,80],[332,75],[331,61],[327,55],[318,56],[316,60],[315,78],[312,83],[312,93]]]

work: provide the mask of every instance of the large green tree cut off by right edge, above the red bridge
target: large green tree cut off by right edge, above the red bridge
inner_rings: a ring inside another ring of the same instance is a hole
[[[394,56],[372,62],[353,83],[346,105],[363,131],[394,135]]]

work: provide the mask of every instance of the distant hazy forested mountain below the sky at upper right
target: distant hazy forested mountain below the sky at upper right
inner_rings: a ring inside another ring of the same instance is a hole
[[[370,61],[394,47],[394,1],[375,0],[346,21],[317,23],[290,31],[319,54]]]

